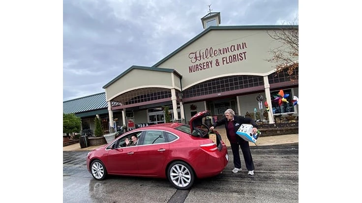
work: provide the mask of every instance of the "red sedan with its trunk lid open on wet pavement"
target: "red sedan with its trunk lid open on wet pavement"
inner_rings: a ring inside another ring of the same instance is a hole
[[[187,190],[195,178],[220,174],[229,161],[220,134],[202,124],[208,115],[208,111],[197,113],[190,125],[166,123],[126,132],[88,153],[88,171],[96,180],[108,174],[167,178],[177,189]],[[209,139],[211,133],[216,139]],[[132,138],[137,140],[134,145]]]

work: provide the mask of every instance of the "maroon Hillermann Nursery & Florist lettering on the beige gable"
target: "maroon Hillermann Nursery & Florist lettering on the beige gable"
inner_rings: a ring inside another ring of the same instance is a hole
[[[246,60],[246,48],[246,42],[242,42],[241,44],[230,45],[229,47],[217,49],[210,47],[190,52],[188,58],[192,64],[188,66],[188,73]]]

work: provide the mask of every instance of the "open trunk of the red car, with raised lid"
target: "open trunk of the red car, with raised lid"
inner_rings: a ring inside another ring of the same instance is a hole
[[[191,134],[197,137],[210,138],[210,134],[216,134],[216,146],[220,151],[222,148],[221,135],[217,131],[211,131],[210,128],[203,124],[203,119],[210,116],[209,111],[200,111],[190,119]],[[193,133],[196,131],[196,133]]]

